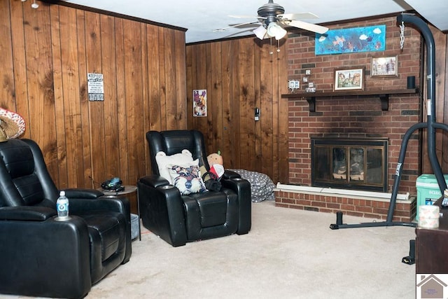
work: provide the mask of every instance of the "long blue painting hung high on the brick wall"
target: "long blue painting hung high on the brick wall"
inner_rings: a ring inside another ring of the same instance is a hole
[[[316,34],[315,54],[342,54],[386,50],[386,25],[328,30]]]

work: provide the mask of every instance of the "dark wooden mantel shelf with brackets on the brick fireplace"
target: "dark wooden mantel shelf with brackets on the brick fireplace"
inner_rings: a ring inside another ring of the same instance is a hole
[[[287,95],[281,95],[287,99],[307,99],[309,112],[316,112],[316,97],[379,97],[381,100],[381,110],[388,111],[390,95],[406,95],[419,93],[419,88],[409,88],[405,90],[345,90],[345,91],[326,91],[326,92],[297,92]]]

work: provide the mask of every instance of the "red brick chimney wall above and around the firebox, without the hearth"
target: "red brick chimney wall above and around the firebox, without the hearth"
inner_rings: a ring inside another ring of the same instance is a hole
[[[421,74],[421,34],[411,27],[406,29],[406,43],[400,50],[400,28],[395,16],[331,25],[330,29],[386,25],[386,51],[346,53],[339,55],[315,55],[314,35],[291,35],[287,41],[288,79],[299,80],[307,77],[314,83],[316,92],[332,92],[335,69],[341,67],[365,67],[365,90],[407,89],[407,76]],[[398,76],[371,77],[370,64],[374,56],[397,55]],[[311,74],[307,74],[309,71]],[[419,84],[417,83],[417,87]],[[304,92],[307,85],[301,84]],[[388,110],[381,110],[377,97],[316,97],[316,112],[309,111],[305,99],[290,98],[288,101],[288,166],[290,183],[311,186],[311,137],[330,134],[351,135],[360,138],[386,137],[388,144],[387,190],[390,192],[402,136],[412,125],[421,122],[423,107],[421,95],[393,95],[388,101]],[[419,132],[412,135],[407,145],[407,155],[403,165],[399,193],[416,194],[416,178],[421,166]]]

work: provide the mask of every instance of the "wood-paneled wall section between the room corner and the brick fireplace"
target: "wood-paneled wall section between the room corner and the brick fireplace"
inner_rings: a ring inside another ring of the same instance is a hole
[[[221,151],[225,168],[262,172],[274,182],[288,181],[284,40],[276,50],[275,40],[271,47],[252,36],[186,47],[188,128],[204,133],[208,153]],[[193,116],[197,89],[207,90],[207,117]]]

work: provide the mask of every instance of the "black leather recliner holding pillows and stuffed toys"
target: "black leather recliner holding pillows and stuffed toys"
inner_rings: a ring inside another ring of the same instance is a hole
[[[153,174],[138,182],[141,220],[145,228],[172,246],[201,239],[222,237],[251,230],[251,185],[235,172],[225,171],[221,191],[181,195],[178,188],[160,176],[155,155],[181,153],[188,149],[199,165],[210,169],[204,137],[196,130],[146,133]]]

